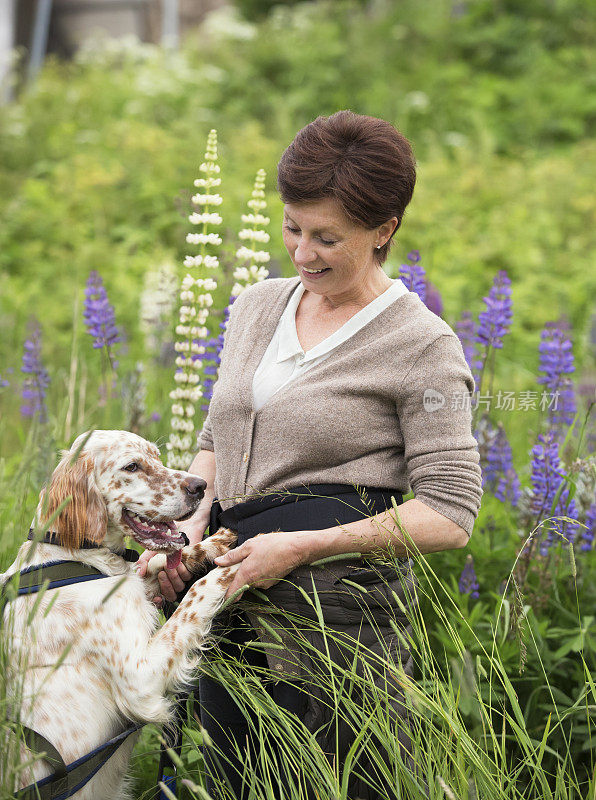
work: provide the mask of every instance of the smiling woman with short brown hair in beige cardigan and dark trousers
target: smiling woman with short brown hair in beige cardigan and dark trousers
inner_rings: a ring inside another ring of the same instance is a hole
[[[362,595],[346,598],[341,584],[354,562],[327,570],[308,565],[389,550],[403,559],[407,576],[408,540],[422,553],[465,546],[482,494],[465,402],[473,380],[459,341],[382,269],[414,184],[409,143],[383,120],[340,111],[297,134],[280,160],[278,188],[284,244],[298,277],[257,284],[234,303],[190,468],[209,487],[192,524],[185,523],[191,541],[203,536],[214,497],[212,525],[239,532],[238,547],[217,560],[240,563],[229,594],[250,584],[301,613],[306,602],[301,609],[287,587],[308,588],[314,577],[326,623],[364,637],[367,647],[373,644]],[[366,488],[365,503],[356,486]],[[402,503],[410,487],[414,497]],[[399,521],[392,498],[401,503]],[[356,567],[370,580],[370,570]],[[183,567],[161,573],[164,597],[173,599],[189,577]],[[398,576],[390,580],[403,591]],[[390,639],[374,582],[369,588],[367,613],[377,635]],[[266,626],[255,616],[250,622],[267,641]],[[283,619],[278,623],[283,636]],[[254,630],[236,632],[240,644],[250,638]],[[320,730],[325,704],[293,682],[299,676],[304,689],[309,665],[293,657],[291,645],[281,660],[278,645],[268,661],[283,678],[273,689],[276,701]],[[230,736],[245,740],[244,720],[218,684],[201,680],[201,706],[203,725],[220,747]],[[403,713],[399,698],[394,713]],[[346,731],[337,735],[337,757],[349,739]],[[234,770],[227,772],[240,797]],[[349,794],[382,793],[360,784]]]

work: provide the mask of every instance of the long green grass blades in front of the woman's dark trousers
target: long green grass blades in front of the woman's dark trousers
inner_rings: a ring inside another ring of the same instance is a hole
[[[394,646],[387,642],[375,653],[326,627],[316,593],[304,596],[304,616],[291,619],[294,647],[314,665],[305,682],[307,690],[329,705],[332,726],[337,722],[351,732],[353,745],[344,762],[337,753],[323,752],[301,720],[275,705],[267,686],[279,679],[278,674],[222,658],[217,645],[207,652],[202,671],[227,688],[249,722],[251,752],[256,757],[238,748],[246,797],[349,800],[348,781],[357,776],[379,797],[400,800],[593,798],[592,753],[578,759],[572,738],[579,723],[587,726],[590,741],[595,733],[594,664],[580,655],[584,680],[574,687],[577,699],[570,706],[541,664],[540,681],[552,700],[552,710],[544,713],[538,725],[534,718],[530,723],[514,686],[517,676],[511,675],[508,659],[501,654],[503,637],[515,637],[516,627],[525,622],[523,646],[539,656],[533,624],[525,619],[527,607],[519,593],[498,598],[490,620],[492,638],[482,641],[466,619],[463,604],[428,560],[418,556],[414,569],[420,576],[421,602],[409,602],[406,608],[395,595],[389,612],[395,637],[413,654],[413,676],[395,662]],[[513,572],[509,579],[513,581]],[[375,626],[366,610],[368,590],[363,586],[359,591],[363,622]],[[410,630],[404,627],[404,615],[410,620]],[[287,625],[287,614],[285,618]],[[471,637],[473,648],[466,646],[456,619]],[[433,630],[437,626],[446,632],[455,655],[436,647]],[[324,644],[320,650],[299,634],[309,630]],[[329,651],[337,648],[345,657],[343,666],[329,657]],[[379,688],[379,678],[386,688]],[[403,694],[405,707],[404,717],[397,722],[388,713],[396,691]],[[400,746],[398,734],[402,741],[411,739],[412,759]],[[196,723],[186,728],[185,741],[177,759],[184,791],[204,800],[199,746],[214,745],[200,728],[197,735]],[[366,771],[363,758],[370,765]],[[221,792],[228,796],[225,784]]]

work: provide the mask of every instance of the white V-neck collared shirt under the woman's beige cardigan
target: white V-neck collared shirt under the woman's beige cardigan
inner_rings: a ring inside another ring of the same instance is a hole
[[[254,410],[259,411],[269,398],[273,397],[283,386],[329,358],[340,344],[358,333],[398,297],[407,292],[408,290],[399,278],[394,280],[388,289],[360,309],[353,317],[350,317],[339,330],[305,352],[296,332],[296,309],[304,294],[304,286],[299,283],[280,317],[273,338],[255,372],[252,382]]]

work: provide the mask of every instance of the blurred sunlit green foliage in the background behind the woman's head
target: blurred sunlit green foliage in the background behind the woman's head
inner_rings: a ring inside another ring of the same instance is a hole
[[[48,356],[66,364],[68,309],[91,269],[121,299],[118,322],[138,358],[142,276],[181,262],[209,128],[231,233],[255,168],[273,176],[301,125],[351,107],[395,122],[417,152],[392,269],[420,249],[451,321],[507,269],[509,356],[532,367],[532,334],[563,311],[583,334],[596,288],[592,26],[570,3],[501,13],[443,0],[302,3],[259,25],[217,12],[178,53],[106,46],[50,61],[0,121],[2,362],[17,366],[27,316],[41,312]],[[289,274],[271,183],[273,267]]]

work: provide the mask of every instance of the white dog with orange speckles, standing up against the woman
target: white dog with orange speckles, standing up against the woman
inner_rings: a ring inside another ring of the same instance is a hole
[[[95,430],[63,451],[42,491],[33,527],[45,533],[44,520],[54,516],[55,543],[25,542],[0,581],[24,567],[62,559],[109,576],[16,597],[4,612],[7,689],[20,708],[13,712],[53,744],[67,765],[131,723],[163,725],[172,718],[167,695],[191,679],[237,569],[207,572],[159,627],[151,602],[159,594],[159,570],[182,560],[189,571],[205,572],[235,542],[232,531],[220,529],[185,547],[174,520],[194,513],[205,487],[202,478],[164,467],[156,445],[136,434]],[[124,558],[126,536],[158,552],[145,579]],[[73,796],[128,797],[127,766],[136,738],[129,736]],[[20,747],[25,763],[31,752]],[[50,774],[49,763],[37,760],[15,788]]]

